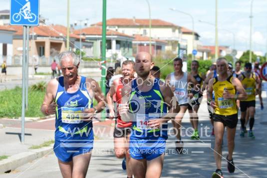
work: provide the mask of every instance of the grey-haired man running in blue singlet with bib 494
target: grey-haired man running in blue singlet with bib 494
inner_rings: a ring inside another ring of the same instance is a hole
[[[102,110],[104,96],[94,79],[78,75],[74,52],[61,52],[58,58],[63,76],[48,82],[41,111],[56,115],[54,152],[62,176],[85,177],[94,140],[90,118]]]

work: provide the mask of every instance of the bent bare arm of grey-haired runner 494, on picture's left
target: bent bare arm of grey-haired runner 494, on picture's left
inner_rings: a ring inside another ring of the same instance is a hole
[[[52,79],[48,82],[46,92],[41,105],[41,112],[44,115],[50,115],[55,113],[57,104],[53,101],[55,99],[58,81]]]

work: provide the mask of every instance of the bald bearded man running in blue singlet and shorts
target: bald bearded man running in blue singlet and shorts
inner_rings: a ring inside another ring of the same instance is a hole
[[[138,76],[122,88],[127,99],[125,102],[123,98],[119,112],[122,119],[133,120],[129,151],[135,178],[161,176],[168,138],[166,122],[175,115],[171,113],[177,112],[171,107],[167,113],[166,103],[171,103],[173,92],[169,85],[151,75],[153,65],[151,54],[139,52],[135,59]]]

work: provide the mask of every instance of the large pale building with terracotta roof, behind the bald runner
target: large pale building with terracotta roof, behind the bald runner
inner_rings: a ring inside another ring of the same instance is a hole
[[[101,26],[102,22],[92,24],[92,26]],[[136,18],[111,18],[107,20],[107,28],[114,31],[126,33],[128,35],[140,34],[149,36],[149,19],[136,19]],[[184,29],[184,31],[182,30]],[[195,34],[195,46],[198,44],[198,33]],[[167,22],[161,19],[151,19],[151,37],[167,41],[165,50],[171,50],[174,53],[178,51],[178,41],[180,43],[180,50],[186,50],[187,54],[192,53],[192,31],[189,29],[178,26],[174,23]]]

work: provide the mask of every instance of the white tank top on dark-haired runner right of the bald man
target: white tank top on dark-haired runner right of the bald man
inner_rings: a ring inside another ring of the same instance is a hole
[[[174,95],[176,96],[179,105],[188,103],[187,100],[187,73],[183,72],[184,76],[180,79],[175,79],[174,72],[171,73],[170,84],[175,87]]]

